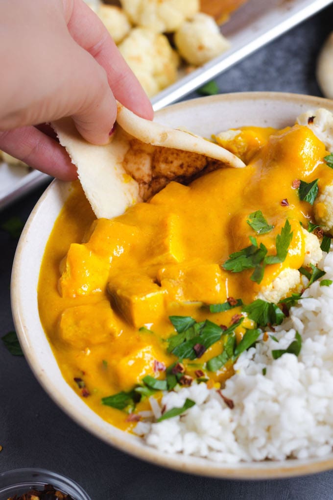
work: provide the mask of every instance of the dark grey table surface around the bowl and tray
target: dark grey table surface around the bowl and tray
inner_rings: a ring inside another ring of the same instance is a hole
[[[321,95],[315,79],[319,49],[333,29],[333,5],[217,78],[221,92],[274,90]],[[195,97],[193,93],[189,97]],[[0,213],[28,217],[42,190]],[[0,336],[13,329],[10,270],[17,241],[0,230]],[[140,461],[80,428],[48,397],[22,357],[0,342],[0,472],[43,467],[81,484],[92,500],[136,498],[333,498],[333,471],[266,481],[212,479]]]

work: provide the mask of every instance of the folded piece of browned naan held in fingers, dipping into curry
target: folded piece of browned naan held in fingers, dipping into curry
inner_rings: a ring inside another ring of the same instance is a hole
[[[146,201],[172,180],[189,183],[221,167],[244,167],[233,153],[190,132],[140,118],[118,103],[109,144],[90,144],[71,118],[52,123],[96,217],[112,218]]]

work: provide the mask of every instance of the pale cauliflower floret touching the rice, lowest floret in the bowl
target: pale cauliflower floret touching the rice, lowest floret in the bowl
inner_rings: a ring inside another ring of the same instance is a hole
[[[271,284],[263,286],[256,298],[261,298],[262,300],[274,302],[276,304],[291,290],[298,291],[301,287],[300,271],[292,269],[291,267],[286,267]]]

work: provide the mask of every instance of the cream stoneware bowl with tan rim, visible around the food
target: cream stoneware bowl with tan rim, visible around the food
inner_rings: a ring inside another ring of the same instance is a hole
[[[156,113],[156,120],[210,137],[241,125],[284,127],[301,112],[318,107],[333,111],[333,101],[305,95],[255,92],[204,97],[181,102]],[[333,453],[325,458],[252,463],[217,463],[181,454],[167,455],[146,446],[94,413],[67,385],[40,325],[37,308],[39,266],[47,238],[70,190],[54,181],[34,207],[20,237],[11,279],[12,312],[24,355],[35,376],[54,401],[84,428],[105,442],[154,464],[195,474],[229,478],[273,478],[309,474],[333,468]]]

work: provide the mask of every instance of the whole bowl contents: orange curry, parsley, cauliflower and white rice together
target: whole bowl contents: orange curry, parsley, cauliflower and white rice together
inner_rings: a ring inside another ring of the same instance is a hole
[[[332,121],[318,110],[283,129],[217,130],[245,167],[171,181],[111,219],[96,219],[73,184],[38,307],[64,379],[104,420],[161,451],[218,461],[332,450],[320,352],[330,357],[332,328],[313,319],[333,300]],[[282,372],[309,414],[293,430]]]

